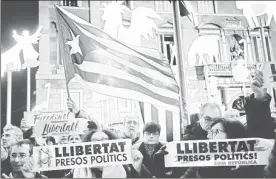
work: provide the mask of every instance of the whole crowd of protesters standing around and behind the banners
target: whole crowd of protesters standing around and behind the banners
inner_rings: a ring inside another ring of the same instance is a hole
[[[251,82],[253,94],[246,98],[246,124],[238,120],[236,111],[222,113],[219,105],[206,103],[199,114],[190,117],[182,140],[264,138],[275,139],[273,119],[270,112],[271,97],[263,88],[261,72],[256,72]],[[140,139],[139,118],[127,116],[122,133],[115,133],[97,123],[85,111],[79,110],[72,100],[68,108],[79,118],[89,119],[84,135],[60,136],[46,139],[37,138],[33,128],[21,124],[21,128],[8,125],[4,127],[1,138],[1,174],[3,178],[276,178],[276,142],[267,166],[216,166],[216,167],[165,167],[166,143],[160,142],[162,127],[149,122],[143,127]],[[39,145],[58,145],[79,142],[95,142],[116,139],[132,139],[133,163],[96,168],[73,168],[33,172],[33,147]],[[44,142],[45,141],[45,142]]]

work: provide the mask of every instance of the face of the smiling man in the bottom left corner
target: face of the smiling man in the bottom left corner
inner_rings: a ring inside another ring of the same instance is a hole
[[[13,146],[11,148],[10,163],[14,172],[21,171],[22,167],[30,159],[30,146],[23,144],[22,146]]]

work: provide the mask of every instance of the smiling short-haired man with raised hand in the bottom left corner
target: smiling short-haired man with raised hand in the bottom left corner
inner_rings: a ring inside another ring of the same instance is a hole
[[[33,172],[33,145],[30,140],[24,139],[11,147],[10,162],[12,172],[2,174],[4,178],[47,178],[38,172]]]

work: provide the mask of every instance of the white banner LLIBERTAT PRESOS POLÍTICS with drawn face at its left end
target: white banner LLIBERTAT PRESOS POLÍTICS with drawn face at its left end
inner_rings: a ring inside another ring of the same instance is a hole
[[[131,140],[34,147],[34,171],[131,164]]]

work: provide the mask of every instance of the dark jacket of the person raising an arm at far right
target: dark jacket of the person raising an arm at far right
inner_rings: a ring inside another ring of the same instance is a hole
[[[270,112],[271,96],[267,94],[264,101],[258,101],[254,94],[246,97],[244,106],[247,120],[248,137],[274,139],[273,119]]]

